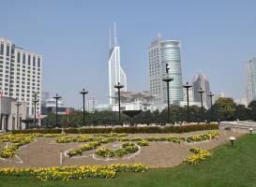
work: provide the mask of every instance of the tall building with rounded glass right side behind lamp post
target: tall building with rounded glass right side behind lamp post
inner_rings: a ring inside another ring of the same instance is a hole
[[[150,94],[155,96],[155,105],[162,108],[167,104],[167,87],[162,81],[167,76],[166,64],[170,67],[169,76],[173,78],[170,82],[170,101],[171,104],[179,105],[183,101],[180,42],[162,40],[158,36],[148,48],[148,61]]]

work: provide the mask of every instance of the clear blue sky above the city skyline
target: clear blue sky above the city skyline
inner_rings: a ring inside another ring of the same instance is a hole
[[[108,103],[109,28],[116,22],[128,91],[149,90],[147,48],[180,40],[183,81],[199,72],[214,94],[246,95],[256,56],[253,0],[0,0],[0,37],[42,54],[42,90],[82,107],[79,91]]]

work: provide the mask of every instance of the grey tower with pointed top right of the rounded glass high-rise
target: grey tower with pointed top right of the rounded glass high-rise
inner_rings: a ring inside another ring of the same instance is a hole
[[[201,95],[198,91],[202,88],[203,93],[203,107],[210,108],[211,100],[207,95],[210,94],[210,84],[205,75],[196,75],[192,79],[192,88],[195,102],[201,102]]]

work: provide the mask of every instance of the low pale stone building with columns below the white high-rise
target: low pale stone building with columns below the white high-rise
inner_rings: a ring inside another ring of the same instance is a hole
[[[0,133],[27,127],[23,122],[27,116],[26,103],[21,102],[19,113],[16,104],[17,100],[14,98],[0,97]]]

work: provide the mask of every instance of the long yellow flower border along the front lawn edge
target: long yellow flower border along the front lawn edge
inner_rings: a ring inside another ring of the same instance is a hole
[[[0,176],[36,176],[38,180],[81,180],[92,178],[115,178],[118,172],[145,172],[148,167],[135,165],[88,165],[46,168],[0,168]]]

